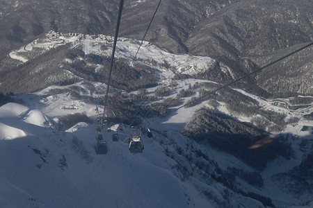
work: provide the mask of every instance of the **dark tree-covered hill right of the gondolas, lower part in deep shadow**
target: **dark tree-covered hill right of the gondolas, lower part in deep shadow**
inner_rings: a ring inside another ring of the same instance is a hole
[[[266,168],[269,161],[281,155],[291,157],[291,146],[280,139],[269,139],[268,134],[248,123],[222,113],[202,109],[195,114],[183,131],[195,141],[209,143],[242,159],[259,170]],[[264,140],[265,139],[265,140]]]

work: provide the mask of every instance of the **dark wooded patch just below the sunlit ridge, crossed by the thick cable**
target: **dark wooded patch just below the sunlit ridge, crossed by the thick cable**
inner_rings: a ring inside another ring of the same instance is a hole
[[[74,49],[66,55],[73,62],[66,63],[65,68],[79,77],[90,81],[108,83],[111,58],[101,55],[85,55],[81,49]],[[144,64],[129,66],[128,60],[115,58],[111,75],[111,83],[115,88],[131,92],[136,89],[157,85],[154,69]]]

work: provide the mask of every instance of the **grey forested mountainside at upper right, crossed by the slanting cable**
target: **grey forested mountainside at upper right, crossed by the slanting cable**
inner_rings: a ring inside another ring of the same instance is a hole
[[[312,42],[312,10],[312,1],[240,1],[200,21],[186,46],[247,73]],[[261,73],[257,85],[274,96],[312,95],[310,84],[298,92],[303,82],[313,81],[312,50],[311,46]]]

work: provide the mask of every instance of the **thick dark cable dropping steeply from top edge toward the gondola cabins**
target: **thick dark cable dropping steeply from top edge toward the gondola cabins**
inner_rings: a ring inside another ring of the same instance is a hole
[[[111,56],[109,80],[108,80],[108,85],[106,87],[106,98],[104,100],[103,119],[104,119],[105,112],[106,112],[106,102],[108,101],[109,86],[110,86],[110,82],[111,82],[111,74],[112,74],[112,68],[113,68],[113,62],[114,62],[114,54],[115,54],[116,42],[118,41],[118,29],[120,28],[120,17],[122,16],[123,4],[124,4],[124,0],[120,0],[120,7],[118,9],[118,21],[116,23],[115,36],[114,36],[114,42],[113,42],[113,50],[112,50],[112,56]]]

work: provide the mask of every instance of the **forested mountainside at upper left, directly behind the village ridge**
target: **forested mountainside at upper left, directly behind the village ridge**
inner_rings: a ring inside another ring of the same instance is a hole
[[[147,40],[172,52],[186,52],[184,40],[206,12],[214,13],[231,1],[168,1],[161,3]],[[0,41],[6,49],[29,42],[49,30],[63,33],[113,35],[117,1],[8,1],[1,0]],[[156,1],[125,1],[120,35],[140,39],[157,6]]]

